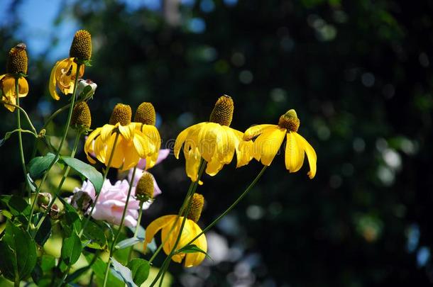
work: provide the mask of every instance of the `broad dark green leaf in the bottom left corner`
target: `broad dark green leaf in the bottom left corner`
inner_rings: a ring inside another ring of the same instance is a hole
[[[1,274],[11,281],[29,276],[38,259],[36,244],[31,236],[9,220],[0,241],[0,258]]]

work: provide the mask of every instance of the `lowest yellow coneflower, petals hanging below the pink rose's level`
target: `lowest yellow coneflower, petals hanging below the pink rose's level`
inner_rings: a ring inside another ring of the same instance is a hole
[[[194,193],[192,198],[192,206],[190,213],[187,215],[187,220],[185,221],[185,226],[183,227],[182,234],[180,235],[179,243],[176,249],[181,249],[185,247],[191,240],[202,232],[202,229],[197,225],[200,214],[202,213],[204,198],[202,195]],[[146,249],[147,244],[149,244],[155,234],[162,230],[161,240],[163,240],[163,250],[165,254],[170,254],[172,248],[175,246],[177,235],[179,235],[179,230],[182,225],[183,217],[177,218],[177,215],[165,215],[153,220],[150,225],[146,228],[146,239],[144,240],[144,249]],[[174,226],[174,227],[173,227]],[[173,229],[172,229],[173,227]],[[172,232],[170,233],[170,230]],[[191,244],[196,245],[199,249],[207,252],[207,240],[204,234],[200,235],[197,240],[194,240]],[[185,258],[185,267],[197,266],[202,263],[206,255],[202,252],[194,253],[178,253],[172,257],[172,261],[177,263],[182,262]]]

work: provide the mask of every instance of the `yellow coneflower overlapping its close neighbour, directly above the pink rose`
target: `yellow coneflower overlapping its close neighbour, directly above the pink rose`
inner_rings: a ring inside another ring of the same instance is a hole
[[[109,123],[102,128],[97,128],[87,137],[84,152],[89,162],[95,163],[91,157],[93,155],[107,166],[113,148],[115,149],[110,167],[121,171],[135,167],[141,158],[158,157],[160,148],[158,130],[155,127],[141,129],[141,123],[131,123],[131,114],[130,106],[118,103],[111,113]],[[119,136],[114,145],[116,134]],[[152,166],[150,164],[150,167]]]

